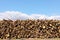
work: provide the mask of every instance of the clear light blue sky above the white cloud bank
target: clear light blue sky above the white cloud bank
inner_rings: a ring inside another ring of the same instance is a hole
[[[0,0],[0,12],[60,15],[60,0]]]

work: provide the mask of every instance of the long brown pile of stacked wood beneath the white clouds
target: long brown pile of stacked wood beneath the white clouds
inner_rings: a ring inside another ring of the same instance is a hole
[[[0,38],[60,38],[60,20],[2,20]]]

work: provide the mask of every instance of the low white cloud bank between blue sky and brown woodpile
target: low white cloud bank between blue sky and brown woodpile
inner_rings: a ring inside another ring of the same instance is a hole
[[[18,11],[6,11],[0,12],[0,20],[2,19],[11,19],[11,20],[25,20],[25,19],[56,19],[60,20],[60,16],[47,16],[41,14],[31,14],[27,15],[26,13],[18,12]]]

